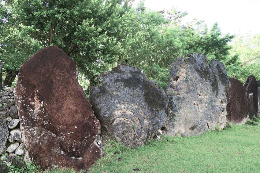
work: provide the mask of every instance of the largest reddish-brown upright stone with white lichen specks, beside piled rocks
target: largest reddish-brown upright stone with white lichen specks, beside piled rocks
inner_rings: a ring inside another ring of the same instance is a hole
[[[77,81],[76,63],[56,46],[20,68],[14,87],[25,154],[43,168],[89,168],[102,157],[100,124]]]

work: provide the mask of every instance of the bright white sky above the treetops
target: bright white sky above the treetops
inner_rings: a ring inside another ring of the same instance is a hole
[[[171,7],[187,11],[184,23],[196,18],[210,29],[217,22],[222,34],[260,34],[260,0],[146,0],[145,6],[157,11]]]

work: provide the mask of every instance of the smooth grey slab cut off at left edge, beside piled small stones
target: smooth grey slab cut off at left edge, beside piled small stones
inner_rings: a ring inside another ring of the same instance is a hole
[[[0,155],[5,151],[8,135],[9,131],[6,125],[6,121],[0,118]]]

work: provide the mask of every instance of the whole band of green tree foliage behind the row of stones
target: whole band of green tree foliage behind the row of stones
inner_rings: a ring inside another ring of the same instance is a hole
[[[228,75],[240,80],[259,69],[259,36],[250,43],[237,37],[231,46],[235,36],[222,36],[217,23],[208,31],[197,19],[183,25],[187,12],[152,11],[143,1],[131,5],[131,0],[1,1],[4,85],[12,83],[24,61],[50,45],[63,49],[77,63],[81,79],[88,80],[127,63],[165,88],[173,60],[190,52],[222,61]]]

